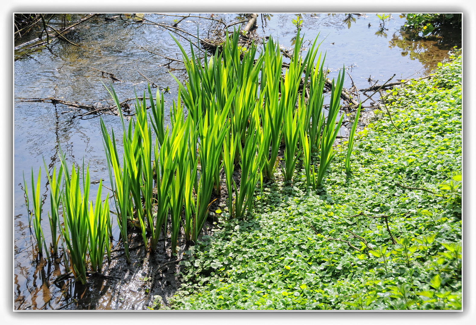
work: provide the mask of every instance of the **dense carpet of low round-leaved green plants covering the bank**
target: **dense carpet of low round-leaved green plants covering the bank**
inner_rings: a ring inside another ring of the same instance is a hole
[[[344,142],[318,191],[278,173],[190,247],[172,308],[461,309],[460,53],[438,66],[387,90],[393,124],[375,112],[352,174]]]

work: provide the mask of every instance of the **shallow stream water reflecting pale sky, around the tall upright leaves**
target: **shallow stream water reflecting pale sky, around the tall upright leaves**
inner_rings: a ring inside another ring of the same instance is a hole
[[[198,14],[191,14],[198,15]],[[319,35],[322,41],[320,50],[326,52],[326,66],[331,70],[330,78],[337,76],[342,66],[349,67],[357,88],[369,85],[369,78],[380,84],[396,74],[393,81],[410,76],[424,76],[447,57],[453,46],[461,46],[461,33],[446,31],[443,38],[412,40],[401,30],[406,19],[392,14],[392,18],[382,27],[375,14],[351,16],[347,14],[303,14],[302,33],[305,43],[313,41]],[[82,14],[54,15],[50,25],[60,28],[62,20],[70,20],[69,25],[85,17]],[[201,14],[210,18],[210,14]],[[237,19],[237,14],[215,14],[214,19],[223,19],[226,23]],[[114,19],[112,20],[106,20]],[[145,14],[145,18],[163,24],[173,24],[180,17],[159,14]],[[256,32],[260,36],[278,38],[282,48],[292,48],[296,36],[294,14],[260,14]],[[48,46],[28,48],[32,44],[22,45],[28,40],[38,38],[39,30],[32,30],[16,40],[14,62],[14,308],[15,309],[58,309],[65,306],[61,288],[50,280],[64,271],[61,263],[40,266],[37,261],[33,230],[28,227],[28,215],[23,193],[23,172],[31,189],[31,168],[36,177],[41,166],[41,194],[46,198],[49,193],[43,159],[52,171],[59,165],[57,150],[59,145],[66,154],[69,166],[81,164],[83,159],[89,163],[90,179],[103,179],[109,186],[109,175],[102,144],[99,117],[81,119],[85,113],[80,109],[66,105],[25,102],[24,99],[56,97],[69,102],[95,105],[108,100],[109,94],[103,86],[111,79],[102,75],[93,67],[113,73],[123,82],[114,82],[119,100],[134,96],[147,88],[147,80],[138,71],[156,85],[169,87],[165,94],[166,116],[172,100],[176,99],[178,86],[165,65],[167,59],[151,54],[181,59],[181,54],[169,30],[153,24],[134,24],[133,19],[119,14],[94,16],[79,24],[66,34],[74,46],[62,40],[55,40]],[[147,22],[147,21],[146,21]],[[238,25],[236,25],[238,26]],[[193,35],[207,37],[216,27],[215,21],[188,17],[178,27]],[[221,25],[223,27],[223,25]],[[177,36],[177,35],[175,35]],[[188,40],[178,38],[187,48]],[[194,39],[192,38],[192,41]],[[136,45],[137,44],[137,45]],[[139,46],[138,46],[139,45]],[[305,51],[304,51],[305,54]],[[183,81],[186,73],[183,65],[172,63],[170,71]],[[346,76],[346,88],[351,80]],[[155,95],[155,90],[153,90]],[[120,118],[114,115],[102,115],[105,124],[114,130],[121,129]],[[121,148],[121,143],[118,143]],[[119,153],[120,154],[120,153]],[[90,198],[96,196],[98,184],[91,184]],[[31,190],[30,190],[31,191]],[[106,197],[103,191],[103,199]],[[50,210],[49,198],[43,205],[43,230],[47,243],[51,242],[47,211]],[[111,216],[113,217],[113,216]],[[115,218],[112,218],[115,219]],[[116,220],[113,220],[114,239],[119,238]],[[115,242],[114,244],[116,244]],[[73,290],[74,285],[68,290]],[[100,289],[100,288],[99,288]],[[104,303],[96,308],[118,308]]]

